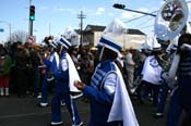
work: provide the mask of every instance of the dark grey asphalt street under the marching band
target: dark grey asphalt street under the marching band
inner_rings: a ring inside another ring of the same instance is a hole
[[[51,102],[51,94],[49,96],[49,102]],[[154,118],[153,114],[156,106],[152,106],[150,101],[144,104],[140,104],[135,100],[132,100],[132,102],[140,126],[165,126],[166,115],[163,118]],[[51,105],[39,108],[38,103],[39,99],[32,96],[22,99],[14,93],[11,93],[8,98],[0,97],[0,126],[47,126],[51,121]],[[87,126],[89,103],[84,102],[82,98],[76,99],[76,103],[84,126]],[[67,108],[61,108],[64,126],[71,126]]]

